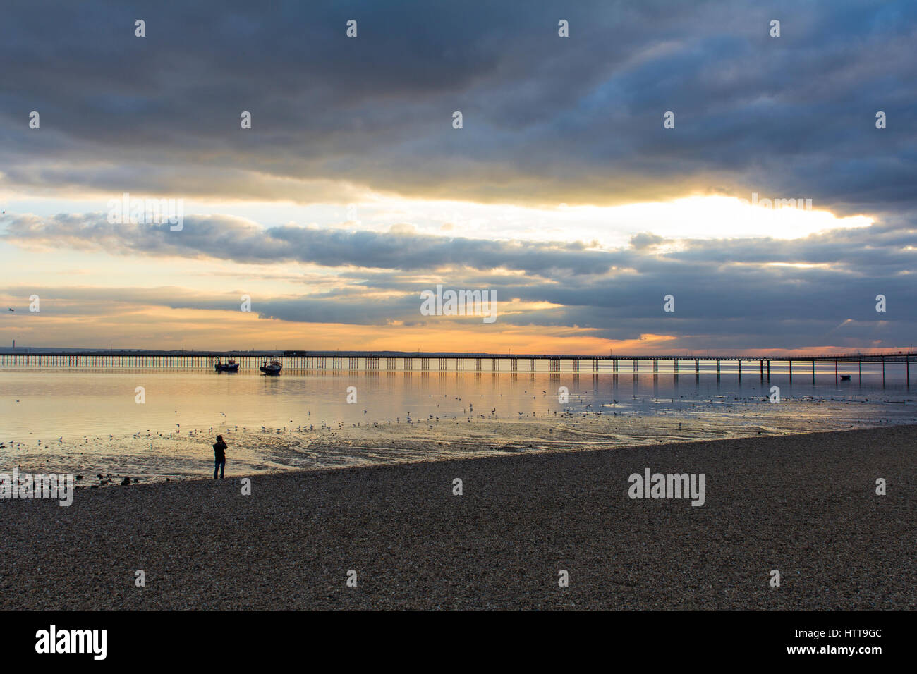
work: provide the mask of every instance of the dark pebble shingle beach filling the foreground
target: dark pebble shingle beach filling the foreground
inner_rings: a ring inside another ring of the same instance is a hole
[[[704,473],[705,504],[629,499],[647,467]],[[3,609],[917,609],[917,425],[515,447],[0,513]]]

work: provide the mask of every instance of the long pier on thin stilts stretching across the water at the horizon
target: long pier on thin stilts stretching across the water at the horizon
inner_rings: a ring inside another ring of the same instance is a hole
[[[799,375],[811,371],[814,381],[816,364],[834,364],[834,376],[839,376],[839,364],[856,363],[857,372],[862,374],[863,363],[881,363],[882,380],[885,380],[886,366],[892,363],[903,365],[905,381],[911,384],[911,362],[917,361],[917,351],[841,353],[788,356],[590,356],[558,354],[495,354],[459,353],[454,351],[185,351],[145,349],[53,349],[53,348],[3,348],[0,349],[0,365],[40,367],[127,367],[127,368],[171,368],[171,369],[213,369],[216,359],[236,359],[239,370],[257,370],[264,360],[280,360],[286,370],[330,370],[330,371],[402,371],[402,372],[547,372],[561,371],[578,373],[645,373],[659,371],[660,363],[670,364],[674,374],[681,372],[713,374],[719,376],[724,366],[735,366],[735,373],[741,378],[743,364],[746,373],[757,370],[760,379],[770,379],[771,367],[777,366],[780,373],[787,370],[792,380],[794,368]],[[622,367],[630,366],[630,370]],[[703,366],[703,367],[702,367]],[[715,370],[714,370],[715,368]],[[730,370],[732,368],[730,367]],[[830,370],[830,368],[829,368]],[[730,372],[732,373],[732,372]]]

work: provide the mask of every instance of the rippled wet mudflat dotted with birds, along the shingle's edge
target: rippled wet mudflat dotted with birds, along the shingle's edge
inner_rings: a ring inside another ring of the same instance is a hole
[[[392,419],[364,422],[254,428],[235,425],[138,432],[129,436],[60,437],[6,445],[0,467],[25,472],[73,473],[81,489],[131,481],[200,480],[213,475],[217,434],[224,436],[234,474],[263,476],[287,470],[379,466],[442,459],[500,456],[507,452],[580,451],[636,445],[718,440],[727,437],[796,435],[917,422],[911,407],[900,415],[869,418],[836,404],[743,403],[704,414],[520,415],[505,419],[476,414],[459,419]],[[738,409],[737,408],[741,408]],[[840,411],[839,411],[840,409]],[[757,410],[757,411],[756,411]],[[898,410],[896,410],[898,411]],[[861,411],[862,412],[862,411]],[[747,413],[747,414],[745,414]]]

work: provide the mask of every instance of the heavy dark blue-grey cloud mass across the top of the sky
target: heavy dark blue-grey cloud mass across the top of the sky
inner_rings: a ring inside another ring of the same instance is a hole
[[[340,194],[272,179],[554,204],[757,191],[893,211],[917,183],[915,26],[909,0],[12,2],[0,171],[302,201]]]

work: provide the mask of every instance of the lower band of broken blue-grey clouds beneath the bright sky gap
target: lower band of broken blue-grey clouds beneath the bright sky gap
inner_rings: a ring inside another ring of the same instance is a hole
[[[497,293],[499,324],[575,328],[609,340],[672,337],[668,348],[906,346],[917,328],[917,226],[897,223],[835,230],[794,240],[667,241],[638,235],[621,250],[366,231],[261,228],[238,218],[189,217],[168,225],[109,225],[103,215],[11,219],[3,238],[25,249],[66,245],[108,254],[212,259],[325,269],[326,291],[252,298],[264,318],[355,326],[475,326],[480,319],[420,315],[420,293],[447,288]],[[665,253],[659,252],[667,247]],[[182,289],[120,288],[61,299],[111,300],[176,309],[238,311],[247,271],[226,279],[225,295]],[[311,285],[311,284],[310,284]],[[21,291],[25,293],[23,289]],[[11,293],[14,294],[14,293]],[[673,294],[676,311],[663,311]],[[888,311],[876,312],[876,295]]]

